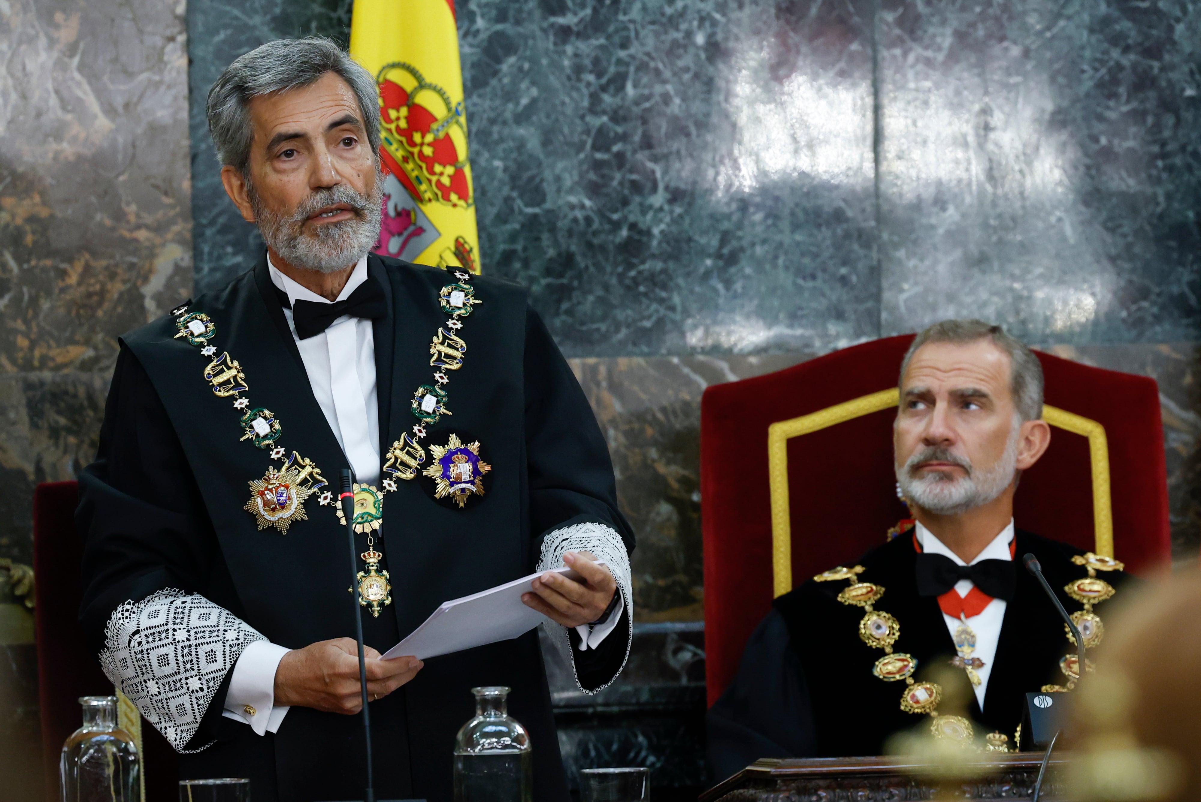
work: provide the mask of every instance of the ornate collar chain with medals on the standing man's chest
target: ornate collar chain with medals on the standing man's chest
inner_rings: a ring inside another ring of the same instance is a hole
[[[438,327],[437,334],[430,341],[430,366],[434,376],[429,384],[422,384],[413,393],[410,408],[417,423],[412,433],[405,432],[394,442],[386,454],[381,472],[384,475],[381,487],[368,484],[355,484],[354,516],[351,525],[355,532],[366,533],[368,550],[360,555],[366,570],[359,571],[359,604],[371,606],[371,615],[378,616],[381,605],[392,604],[392,585],[387,570],[380,569],[383,555],[375,550],[375,533],[383,520],[383,496],[398,489],[396,480],[414,479],[422,473],[435,480],[435,498],[450,497],[462,508],[471,496],[484,495],[483,477],[492,468],[479,459],[479,442],[464,443],[452,433],[446,445],[431,444],[432,461],[429,459],[422,441],[426,436],[426,426],[432,426],[442,415],[449,415],[447,406],[449,383],[448,372],[462,367],[467,353],[467,343],[459,336],[462,319],[482,301],[476,298],[474,287],[468,282],[470,273],[456,270],[456,281],[446,285],[438,292],[438,306],[449,318]],[[246,375],[237,359],[228,352],[216,355],[217,349],[211,343],[216,336],[216,324],[203,312],[190,312],[189,305],[179,306],[171,312],[175,317],[177,340],[183,339],[189,345],[201,349],[201,355],[209,360],[204,366],[204,381],[217,397],[233,399],[233,408],[239,414],[241,426],[240,441],[250,441],[255,447],[270,449],[270,459],[279,461],[279,467],[270,465],[262,479],[250,480],[250,501],[244,509],[255,516],[258,529],[274,527],[280,534],[287,534],[293,521],[304,521],[307,514],[305,501],[313,493],[322,507],[333,505],[339,521],[346,526],[341,507],[335,502],[334,493],[328,487],[325,477],[312,460],[300,456],[297,451],[288,455],[280,444],[283,425],[275,413],[265,407],[251,407]],[[424,466],[424,469],[423,469]]]

